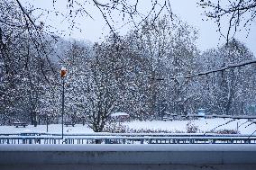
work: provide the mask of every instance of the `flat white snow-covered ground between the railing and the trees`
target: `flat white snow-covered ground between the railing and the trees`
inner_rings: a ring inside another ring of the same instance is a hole
[[[215,127],[224,124],[225,122],[230,121],[229,119],[206,119],[206,120],[195,120],[193,124],[198,126],[200,132],[210,131],[215,129]],[[251,134],[256,130],[256,124],[251,124],[251,121],[246,122],[247,120],[237,120],[232,121],[224,126],[217,128],[216,130],[236,130],[237,122],[239,131],[241,134]],[[188,121],[131,121],[124,122],[123,125],[127,126],[130,130],[167,130],[172,132],[182,131],[187,132],[187,122]],[[242,124],[243,122],[246,122]],[[21,132],[46,132],[46,125],[38,125],[33,127],[32,125],[27,126],[26,128],[15,128],[14,126],[0,126],[0,133],[21,133]],[[49,133],[61,133],[61,124],[50,124]],[[73,133],[94,133],[93,130],[87,126],[81,124],[76,124],[75,127],[66,127],[64,126],[65,134]]]

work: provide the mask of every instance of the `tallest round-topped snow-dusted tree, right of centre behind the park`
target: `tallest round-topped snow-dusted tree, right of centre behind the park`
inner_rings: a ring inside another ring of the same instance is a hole
[[[146,21],[142,30],[136,32],[138,48],[150,61],[147,70],[149,112],[159,118],[164,110],[178,114],[187,112],[188,81],[178,77],[192,71],[193,58],[197,55],[197,31],[185,22],[167,18]]]

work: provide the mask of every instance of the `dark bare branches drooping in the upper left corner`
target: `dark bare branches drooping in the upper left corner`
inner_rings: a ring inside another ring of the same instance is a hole
[[[38,22],[32,16],[32,9],[24,8],[19,0],[3,0],[0,2],[0,9],[0,55],[5,64],[5,73],[16,74],[18,71],[11,66],[14,59],[25,61],[23,68],[28,68],[31,56],[23,54],[23,48],[19,46],[18,41],[29,41],[32,46],[29,50],[36,51],[36,59],[41,62],[40,69],[46,77],[42,63],[48,61],[50,64],[51,51],[47,46],[52,39],[49,39],[50,33],[45,30],[43,22]],[[14,57],[8,52],[11,50],[15,50]]]

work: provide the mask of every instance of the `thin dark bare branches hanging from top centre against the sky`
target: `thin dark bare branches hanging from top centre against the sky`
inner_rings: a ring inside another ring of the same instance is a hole
[[[53,1],[57,2],[57,0]],[[94,19],[95,11],[101,13],[102,17],[105,20],[105,23],[108,25],[110,30],[115,33],[116,25],[118,20],[122,20],[122,26],[133,23],[133,26],[137,27],[144,20],[148,19],[150,16],[158,18],[160,13],[165,9],[166,12],[171,13],[172,11],[169,4],[169,0],[151,0],[147,4],[150,5],[148,12],[145,12],[142,0],[109,0],[109,1],[84,1],[84,0],[69,0],[68,1],[68,10],[69,10],[69,21],[72,23],[72,26],[75,26],[75,18],[79,15],[84,17],[90,17]],[[93,9],[93,10],[91,10]],[[94,11],[93,13],[91,11]]]

